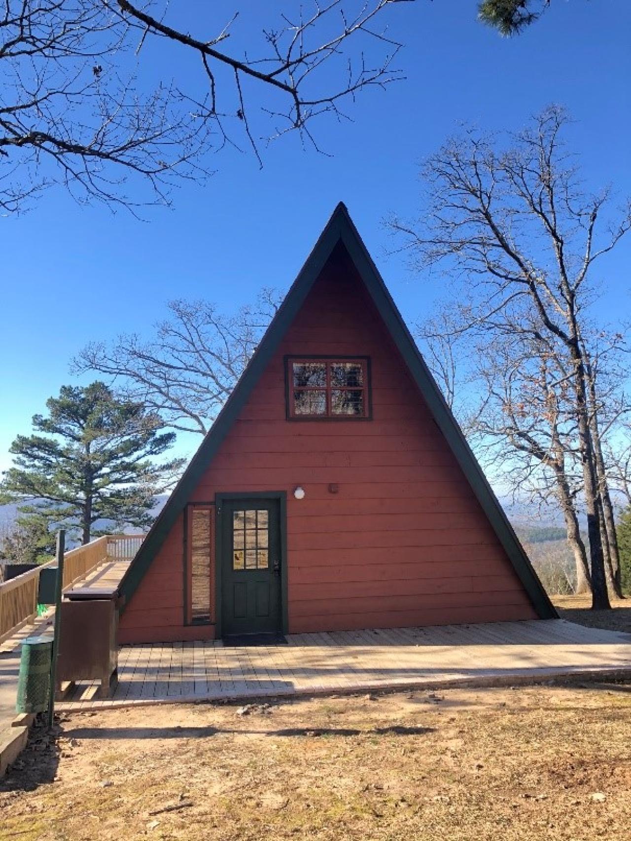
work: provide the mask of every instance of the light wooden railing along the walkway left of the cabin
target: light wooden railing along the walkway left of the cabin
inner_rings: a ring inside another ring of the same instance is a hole
[[[144,537],[142,534],[106,535],[97,537],[85,546],[70,549],[64,555],[63,589],[68,590],[72,584],[108,560],[131,561]],[[39,574],[42,569],[55,566],[55,563],[42,563],[28,573],[16,575],[0,584],[0,643],[34,620],[37,615]]]

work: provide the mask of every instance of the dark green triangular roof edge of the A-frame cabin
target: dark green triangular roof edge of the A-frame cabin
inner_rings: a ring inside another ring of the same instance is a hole
[[[486,480],[476,457],[471,451],[465,436],[460,430],[450,407],[444,400],[434,377],[429,371],[423,357],[418,351],[408,327],[402,319],[397,305],[392,300],[391,294],[386,288],[375,263],[372,262],[361,237],[350,219],[348,210],[343,203],[339,203],[329,219],[326,227],[320,235],[313,251],[302,266],[296,280],[289,289],[286,298],[278,309],[274,319],[266,330],[260,341],[255,354],[250,360],[245,372],[234,387],[232,394],[223,406],[213,426],[204,437],[202,444],[193,456],[185,473],[173,490],[173,493],[161,510],[149,534],[145,537],[139,552],[129,566],[124,579],[119,586],[120,595],[124,596],[124,603],[129,604],[129,599],[134,594],[152,559],[160,549],[171,527],[197,487],[202,474],[212,462],[215,453],[223,439],[228,434],[234,421],[250,397],[252,390],[258,383],[261,374],[266,370],[274,353],[280,345],[287,328],[292,324],[298,310],[302,307],[304,300],[313,283],[318,279],[325,263],[331,257],[334,249],[342,244],[348,252],[351,261],[354,263],[365,288],[371,295],[371,299],[381,314],[386,328],[392,336],[392,340],[408,365],[409,372],[423,399],[429,406],[434,416],[434,421],[442,431],[447,443],[451,447],[462,472],[471,485],[482,510],[484,510],[488,521],[491,523],[499,542],[507,553],[513,564],[513,569],[518,574],[524,590],[528,593],[533,602],[535,610],[541,618],[553,618],[557,616],[543,585],[534,572],[528,556],[523,550],[513,526],[502,510],[491,485]]]

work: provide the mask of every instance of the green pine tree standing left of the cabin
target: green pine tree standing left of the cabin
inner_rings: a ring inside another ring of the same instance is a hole
[[[64,386],[34,415],[34,434],[18,436],[4,473],[0,501],[21,501],[21,513],[63,526],[87,543],[97,520],[149,526],[155,496],[184,460],[155,463],[174,441],[144,406],[117,397],[105,383]],[[38,434],[39,433],[39,434]]]

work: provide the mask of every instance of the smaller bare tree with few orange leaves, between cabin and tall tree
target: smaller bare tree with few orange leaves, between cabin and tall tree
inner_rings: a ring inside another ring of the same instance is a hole
[[[425,358],[450,395],[450,405],[455,405],[463,382],[475,395],[476,405],[463,413],[460,399],[456,413],[486,468],[501,471],[513,503],[525,498],[539,510],[551,503],[560,506],[575,562],[576,592],[590,591],[567,373],[548,347],[520,330],[491,340],[486,331],[481,336],[472,332],[469,309],[449,304],[422,325]]]

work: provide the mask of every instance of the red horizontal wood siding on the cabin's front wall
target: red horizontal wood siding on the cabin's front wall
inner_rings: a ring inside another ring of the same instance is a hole
[[[287,421],[285,355],[371,357],[373,420]],[[325,267],[191,501],[257,490],[287,491],[290,632],[536,618],[350,265]],[[211,636],[183,627],[182,580],[178,521],[124,638]]]

